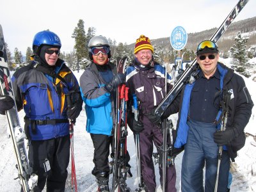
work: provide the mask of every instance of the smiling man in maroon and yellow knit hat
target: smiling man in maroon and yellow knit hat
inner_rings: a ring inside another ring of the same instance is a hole
[[[147,36],[141,35],[136,40],[134,47],[134,61],[131,67],[127,68],[127,87],[129,87],[129,104],[128,104],[128,119],[130,129],[134,134],[140,134],[140,157],[141,157],[141,175],[145,183],[145,191],[154,192],[156,190],[156,176],[154,171],[154,162],[152,159],[154,145],[159,149],[163,143],[163,134],[161,128],[152,124],[148,118],[148,114],[156,108],[156,106],[164,98],[165,88],[165,70],[154,62],[152,54],[154,48]],[[167,76],[168,90],[171,89],[171,77]],[[136,94],[139,101],[139,116],[138,121],[134,120],[132,113],[132,94]],[[154,143],[154,145],[153,145]],[[158,150],[159,154],[161,153]],[[163,170],[159,166],[160,181],[163,183]],[[170,165],[166,169],[166,191],[176,191],[176,172],[175,166]],[[163,187],[163,186],[162,186]]]

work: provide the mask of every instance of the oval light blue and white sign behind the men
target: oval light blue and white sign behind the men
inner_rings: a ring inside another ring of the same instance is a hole
[[[177,26],[173,29],[172,35],[170,36],[170,42],[172,48],[179,51],[184,49],[188,41],[188,34],[186,33],[185,29],[181,26]]]

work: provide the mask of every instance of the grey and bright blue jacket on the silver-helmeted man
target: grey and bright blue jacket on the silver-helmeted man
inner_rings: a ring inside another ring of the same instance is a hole
[[[108,63],[106,67],[115,76],[116,66]],[[84,70],[79,81],[87,116],[86,131],[111,136],[115,125],[115,92],[106,91],[106,81],[95,63],[91,63]]]

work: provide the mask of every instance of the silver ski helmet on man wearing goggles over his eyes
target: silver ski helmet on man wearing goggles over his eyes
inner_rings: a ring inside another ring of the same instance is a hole
[[[99,35],[99,36],[93,36],[88,44],[88,51],[89,51],[89,57],[91,60],[92,58],[92,48],[93,47],[110,47],[109,42],[106,37]],[[111,58],[111,51],[108,52],[108,58]]]

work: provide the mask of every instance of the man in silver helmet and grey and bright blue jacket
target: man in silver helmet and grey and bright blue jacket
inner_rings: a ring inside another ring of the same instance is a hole
[[[92,63],[80,77],[82,97],[86,110],[86,131],[93,141],[94,168],[98,191],[109,191],[109,147],[115,127],[116,88],[125,83],[124,74],[116,74],[116,65],[109,62],[109,42],[104,36],[94,36],[88,44]],[[129,159],[127,160],[129,161]]]

